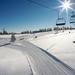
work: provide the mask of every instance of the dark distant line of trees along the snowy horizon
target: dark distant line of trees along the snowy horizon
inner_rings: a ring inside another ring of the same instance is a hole
[[[75,28],[73,27],[54,27],[54,28],[44,28],[44,29],[39,29],[39,30],[34,30],[34,31],[22,31],[20,34],[33,34],[33,33],[40,33],[40,32],[49,32],[49,31],[57,31],[57,30],[73,30]],[[3,29],[3,32],[0,32],[0,35],[9,35],[12,34],[7,32],[5,29]],[[14,33],[18,34],[18,33]]]

